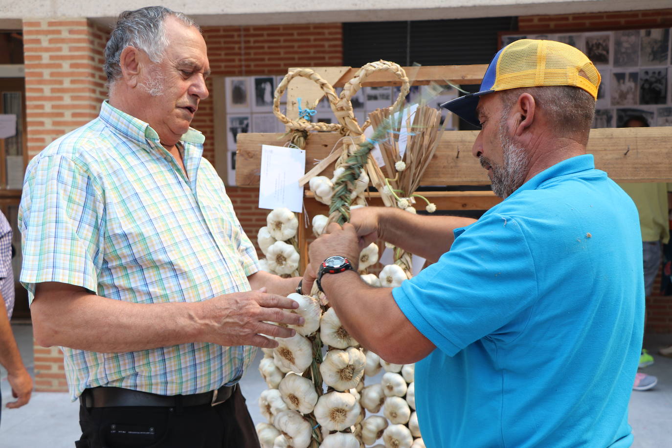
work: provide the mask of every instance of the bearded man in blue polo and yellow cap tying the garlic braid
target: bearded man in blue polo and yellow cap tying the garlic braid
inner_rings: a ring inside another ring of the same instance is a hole
[[[418,361],[429,448],[632,443],[640,232],[628,195],[585,154],[598,86],[576,48],[509,44],[478,93],[444,105],[481,127],[472,153],[501,204],[477,221],[355,210],[310,247],[304,281],[319,279],[353,337],[386,361]],[[433,264],[394,289],[334,269],[374,238]]]

